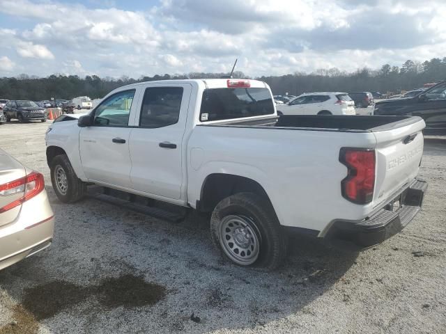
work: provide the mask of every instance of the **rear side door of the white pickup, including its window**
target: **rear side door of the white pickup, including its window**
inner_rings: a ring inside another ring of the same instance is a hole
[[[144,90],[130,134],[132,189],[179,200],[183,180],[183,136],[192,86],[153,84]]]

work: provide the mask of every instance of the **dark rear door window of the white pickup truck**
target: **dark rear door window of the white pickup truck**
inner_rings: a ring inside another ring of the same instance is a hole
[[[182,87],[146,88],[139,126],[157,128],[176,124],[180,116],[182,99]]]

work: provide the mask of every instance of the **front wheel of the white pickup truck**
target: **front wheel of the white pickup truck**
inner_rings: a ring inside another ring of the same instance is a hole
[[[49,169],[54,192],[61,202],[72,203],[84,198],[86,183],[79,180],[65,154],[54,157]]]

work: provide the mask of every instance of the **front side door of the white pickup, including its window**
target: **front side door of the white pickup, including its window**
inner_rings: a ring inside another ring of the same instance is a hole
[[[81,129],[79,149],[89,180],[131,188],[128,124],[132,109],[136,109],[134,95],[132,89],[107,97],[93,111],[93,125]]]

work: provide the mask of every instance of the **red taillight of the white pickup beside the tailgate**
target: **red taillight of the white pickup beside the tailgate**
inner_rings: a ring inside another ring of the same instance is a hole
[[[375,151],[361,148],[341,148],[339,161],[347,169],[341,181],[342,196],[357,204],[367,204],[374,197]]]

